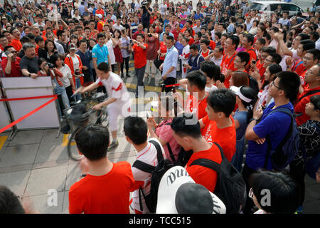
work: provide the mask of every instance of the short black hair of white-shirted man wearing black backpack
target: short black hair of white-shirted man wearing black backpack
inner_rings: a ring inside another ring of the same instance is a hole
[[[124,118],[124,135],[135,145],[141,145],[148,138],[148,126],[146,121],[138,116],[128,116]]]

